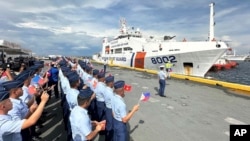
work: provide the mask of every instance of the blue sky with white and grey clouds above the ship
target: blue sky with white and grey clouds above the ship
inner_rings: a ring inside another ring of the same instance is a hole
[[[250,1],[215,0],[215,37],[238,54],[250,52]],[[119,19],[144,35],[208,38],[209,0],[2,0],[0,39],[38,55],[92,55]]]

